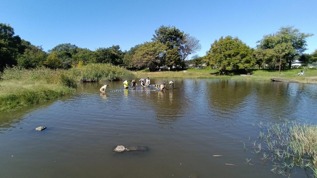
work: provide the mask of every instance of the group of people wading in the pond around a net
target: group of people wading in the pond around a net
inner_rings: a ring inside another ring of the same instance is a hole
[[[141,86],[143,86],[143,87],[150,86],[150,79],[149,79],[149,78],[146,78],[146,80],[140,79],[139,81],[141,81]],[[138,86],[138,84],[137,84],[137,82],[136,82],[136,79],[133,79],[133,80],[131,81],[131,83],[132,83],[132,85],[130,85],[130,82],[129,82],[128,80],[125,80],[125,81],[123,82],[123,87],[124,87],[124,89],[128,89],[129,86],[130,86],[130,87],[136,87],[136,86]],[[173,88],[174,88],[174,81],[173,81],[173,80],[170,81],[169,84],[170,84],[170,89],[173,89]],[[108,85],[102,86],[102,87],[100,88],[100,92],[105,92],[106,89],[107,89],[107,86],[108,86]],[[163,84],[161,84],[161,85],[156,85],[156,84],[155,84],[155,87],[156,87],[157,89],[159,89],[160,91],[166,90],[166,84],[165,84],[165,82],[164,82]]]

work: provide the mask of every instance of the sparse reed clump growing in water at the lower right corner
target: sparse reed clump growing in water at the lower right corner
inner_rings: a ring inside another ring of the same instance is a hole
[[[261,155],[263,161],[272,161],[271,171],[290,177],[292,168],[298,166],[317,177],[317,125],[286,120],[283,124],[261,122],[258,126],[266,148],[254,141],[252,152]]]

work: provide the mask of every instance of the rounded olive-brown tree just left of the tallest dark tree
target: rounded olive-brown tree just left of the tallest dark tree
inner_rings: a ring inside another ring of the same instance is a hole
[[[139,68],[149,67],[149,71],[154,71],[157,67],[164,65],[166,50],[167,46],[160,42],[146,42],[135,51],[132,64]]]

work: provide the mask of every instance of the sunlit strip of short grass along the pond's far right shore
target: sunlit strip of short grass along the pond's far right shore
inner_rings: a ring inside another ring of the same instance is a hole
[[[283,79],[293,79],[297,81],[312,81],[310,79],[306,79],[307,77],[316,77],[317,70],[316,69],[307,69],[304,75],[297,75],[301,72],[301,69],[292,69],[282,71],[279,74],[278,71],[269,71],[269,70],[253,70],[251,76],[219,76],[215,75],[218,73],[218,69],[187,69],[185,71],[178,71],[178,72],[143,72],[138,71],[134,72],[135,75],[139,76],[141,74],[146,73],[150,78],[167,78],[167,77],[174,77],[174,78],[187,78],[187,79],[237,79],[237,80],[263,80],[263,81],[270,81],[272,77],[276,78],[283,78]]]

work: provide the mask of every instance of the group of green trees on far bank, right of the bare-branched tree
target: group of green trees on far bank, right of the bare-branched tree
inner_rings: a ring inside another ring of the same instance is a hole
[[[317,61],[317,49],[312,54],[303,54],[307,50],[306,40],[312,35],[292,26],[281,27],[274,34],[264,35],[256,48],[250,48],[237,37],[221,37],[211,44],[202,59],[222,73],[263,66],[290,69],[296,59],[303,65]]]

